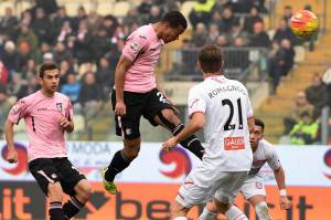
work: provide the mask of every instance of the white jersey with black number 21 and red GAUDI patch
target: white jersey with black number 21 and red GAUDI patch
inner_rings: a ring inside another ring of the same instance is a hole
[[[253,161],[247,118],[253,109],[246,87],[214,75],[189,93],[189,115],[205,114],[203,164],[221,171],[248,171]]]

